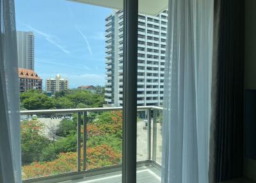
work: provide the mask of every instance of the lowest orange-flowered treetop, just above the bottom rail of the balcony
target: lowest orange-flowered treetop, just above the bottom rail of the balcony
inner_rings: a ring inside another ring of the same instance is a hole
[[[83,162],[83,149],[81,149],[81,162]],[[118,164],[121,161],[122,154],[116,153],[108,145],[99,145],[87,149],[86,169],[101,168]],[[81,168],[83,164],[81,164]],[[23,179],[33,179],[36,177],[46,177],[49,175],[58,175],[77,171],[77,153],[67,152],[58,155],[58,159],[50,162],[34,162],[22,167]]]

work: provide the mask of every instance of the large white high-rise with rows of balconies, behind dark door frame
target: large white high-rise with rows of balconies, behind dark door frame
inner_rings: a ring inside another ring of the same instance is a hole
[[[138,19],[138,106],[163,104],[164,60],[166,52],[167,10],[157,16]],[[122,11],[106,18],[105,101],[122,106],[123,97],[123,22]]]

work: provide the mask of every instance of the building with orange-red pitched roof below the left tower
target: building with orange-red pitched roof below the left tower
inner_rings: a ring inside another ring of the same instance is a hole
[[[33,70],[19,68],[19,82],[20,92],[27,92],[28,90],[42,92],[42,79]]]

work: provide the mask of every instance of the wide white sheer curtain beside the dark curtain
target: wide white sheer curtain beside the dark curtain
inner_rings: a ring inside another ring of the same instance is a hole
[[[162,182],[207,183],[213,0],[169,0]]]

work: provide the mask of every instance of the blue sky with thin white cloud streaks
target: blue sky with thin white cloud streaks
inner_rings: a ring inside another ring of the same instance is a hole
[[[111,9],[65,0],[15,0],[17,31],[35,34],[35,71],[70,88],[104,85],[104,26]]]

